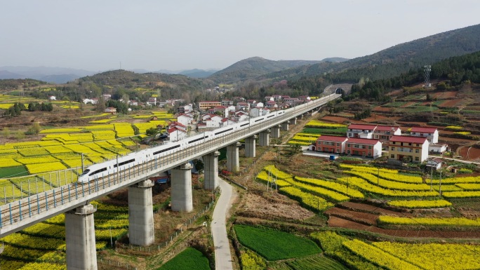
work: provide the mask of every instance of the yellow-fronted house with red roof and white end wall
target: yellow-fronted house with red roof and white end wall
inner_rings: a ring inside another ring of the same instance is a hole
[[[389,158],[397,161],[423,162],[428,158],[426,137],[393,135],[388,144]]]

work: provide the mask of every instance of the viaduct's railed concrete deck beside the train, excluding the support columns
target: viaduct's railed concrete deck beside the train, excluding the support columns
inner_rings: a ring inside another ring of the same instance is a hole
[[[68,183],[20,198],[18,201],[0,205],[0,238],[36,222],[46,220],[48,217],[53,217],[79,205],[84,205],[87,201],[93,201],[113,191],[146,180],[148,177],[152,177],[160,172],[180,166],[196,157],[204,156],[229,144],[236,143],[245,137],[258,134],[295,116],[309,112],[338,96],[329,95],[316,102],[308,102],[304,106],[286,110],[286,113],[280,117],[249,125],[241,130],[227,133],[221,137],[215,137],[213,140],[204,140],[204,143],[175,151],[168,156],[149,159],[145,163],[129,166],[117,173],[102,175],[86,184]]]

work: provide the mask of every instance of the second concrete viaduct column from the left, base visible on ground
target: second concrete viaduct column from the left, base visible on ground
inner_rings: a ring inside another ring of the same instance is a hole
[[[145,180],[128,187],[128,240],[133,245],[152,245],[155,241],[152,187]]]

